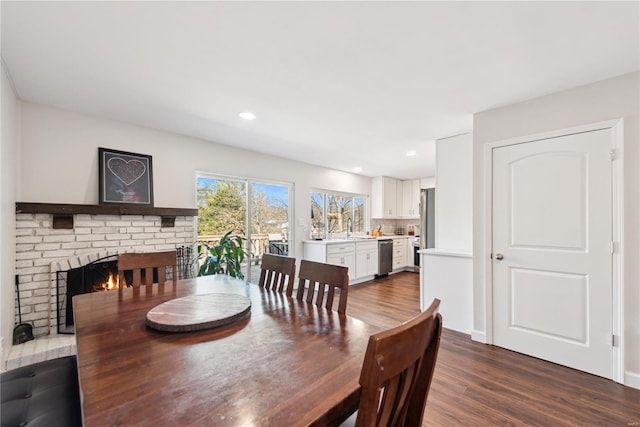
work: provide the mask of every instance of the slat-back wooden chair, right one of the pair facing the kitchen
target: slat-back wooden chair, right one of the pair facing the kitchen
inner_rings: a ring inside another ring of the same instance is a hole
[[[345,314],[349,292],[349,269],[306,259],[300,261],[297,299],[331,310],[336,289],[340,293],[338,313]]]

